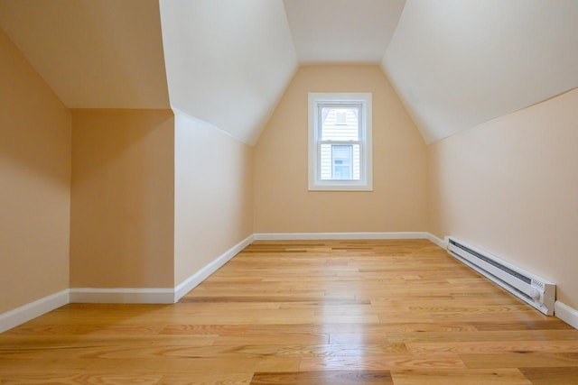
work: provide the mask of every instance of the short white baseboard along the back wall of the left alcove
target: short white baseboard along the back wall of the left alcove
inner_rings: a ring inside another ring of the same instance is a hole
[[[171,288],[73,288],[70,303],[85,304],[172,304]]]

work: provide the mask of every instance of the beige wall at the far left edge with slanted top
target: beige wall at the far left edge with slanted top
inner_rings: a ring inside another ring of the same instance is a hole
[[[0,30],[0,313],[68,289],[70,112]]]

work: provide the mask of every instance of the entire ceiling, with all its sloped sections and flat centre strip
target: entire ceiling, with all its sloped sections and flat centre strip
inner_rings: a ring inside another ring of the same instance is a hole
[[[316,63],[381,63],[437,141],[578,87],[577,20],[577,0],[0,0],[65,105],[171,105],[247,143]]]

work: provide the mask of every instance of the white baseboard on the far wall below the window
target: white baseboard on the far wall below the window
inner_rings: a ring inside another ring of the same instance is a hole
[[[256,241],[319,241],[347,239],[429,239],[426,232],[395,233],[256,233]]]

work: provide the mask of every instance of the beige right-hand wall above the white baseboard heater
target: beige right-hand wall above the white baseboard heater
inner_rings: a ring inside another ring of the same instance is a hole
[[[578,308],[578,90],[428,148],[430,231],[552,280]]]

